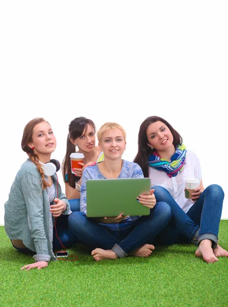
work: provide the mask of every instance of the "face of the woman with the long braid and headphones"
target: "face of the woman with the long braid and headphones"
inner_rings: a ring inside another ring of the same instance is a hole
[[[56,149],[56,137],[53,134],[52,127],[47,122],[41,122],[33,128],[32,142],[29,147],[34,147],[33,152],[41,160],[42,156],[50,156]]]

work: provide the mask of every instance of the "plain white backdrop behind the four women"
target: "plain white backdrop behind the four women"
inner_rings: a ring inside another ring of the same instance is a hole
[[[11,1],[0,4],[1,194],[20,165],[24,126],[44,117],[62,162],[68,125],[79,116],[126,129],[133,160],[141,122],[169,121],[196,152],[204,186],[222,186],[228,218],[227,2]],[[62,175],[58,173],[64,188]]]

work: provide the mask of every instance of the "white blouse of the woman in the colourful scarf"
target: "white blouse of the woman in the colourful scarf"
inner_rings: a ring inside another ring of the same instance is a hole
[[[200,182],[201,167],[197,156],[191,150],[187,150],[185,162],[183,170],[171,178],[163,170],[149,167],[149,178],[151,188],[162,186],[169,191],[176,203],[187,212],[194,202],[185,198],[185,178],[197,178]]]

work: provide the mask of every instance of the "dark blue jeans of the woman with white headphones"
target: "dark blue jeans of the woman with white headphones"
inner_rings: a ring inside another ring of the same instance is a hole
[[[59,217],[57,217],[56,228],[55,226],[53,228],[53,250],[63,249],[62,245],[65,248],[69,248],[79,242],[79,240],[68,229],[68,216],[69,215],[60,215]],[[62,245],[56,236],[56,232],[57,236],[62,242]],[[18,248],[15,245],[13,245],[13,247],[18,250],[18,252],[23,254],[36,254],[36,252],[31,251],[28,248]]]

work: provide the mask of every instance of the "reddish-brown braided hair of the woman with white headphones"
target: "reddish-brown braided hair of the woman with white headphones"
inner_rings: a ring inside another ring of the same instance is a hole
[[[49,184],[47,183],[47,181],[45,180],[44,177],[44,170],[41,166],[41,164],[39,163],[39,157],[34,153],[34,151],[29,147],[29,143],[32,143],[33,141],[33,129],[34,127],[42,122],[46,122],[48,123],[44,118],[42,117],[37,117],[32,119],[30,122],[28,122],[28,124],[24,127],[23,130],[23,136],[22,136],[22,140],[21,140],[21,148],[23,151],[25,151],[27,153],[27,155],[29,156],[30,160],[36,164],[36,167],[40,173],[40,176],[42,178],[42,190],[46,189],[46,187],[49,186]],[[49,123],[48,123],[49,124]]]

